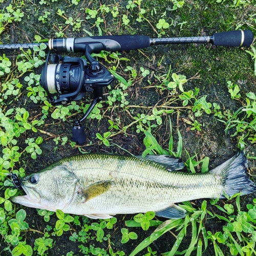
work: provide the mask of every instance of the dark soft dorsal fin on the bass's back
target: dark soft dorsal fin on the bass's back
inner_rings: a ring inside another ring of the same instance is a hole
[[[142,158],[141,156],[136,157]],[[184,168],[184,163],[181,161],[180,158],[176,158],[169,155],[146,155],[145,159],[164,165],[168,168],[169,171],[180,170]]]

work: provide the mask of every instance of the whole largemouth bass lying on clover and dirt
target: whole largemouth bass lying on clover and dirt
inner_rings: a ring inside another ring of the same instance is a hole
[[[256,186],[247,178],[247,159],[238,153],[208,173],[178,171],[184,164],[170,156],[138,158],[84,154],[64,158],[19,180],[25,196],[12,201],[28,207],[93,219],[116,214],[155,211],[179,219],[186,211],[175,203],[200,198],[225,198]]]

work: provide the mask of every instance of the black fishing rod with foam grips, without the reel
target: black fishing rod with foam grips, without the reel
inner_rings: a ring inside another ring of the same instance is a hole
[[[177,44],[205,44],[210,43],[215,46],[248,47],[253,40],[251,30],[235,30],[214,33],[212,36],[194,37],[165,37],[150,38],[144,35],[109,35],[109,36],[87,36],[77,38],[56,38],[45,43],[49,49],[55,49],[59,53],[83,52],[86,45],[98,45],[101,50],[106,51],[130,51],[143,49],[154,45],[177,45]],[[40,43],[31,44],[4,44],[0,45],[0,50],[7,49],[33,49],[40,46]],[[95,49],[96,50],[96,49]],[[100,50],[99,50],[100,51]]]

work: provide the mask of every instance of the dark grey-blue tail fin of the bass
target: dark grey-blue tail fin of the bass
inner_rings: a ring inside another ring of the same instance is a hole
[[[244,153],[238,152],[210,171],[221,176],[224,189],[220,199],[225,198],[225,195],[231,197],[240,192],[241,195],[247,195],[256,190],[255,183],[248,178],[247,167],[248,161]]]

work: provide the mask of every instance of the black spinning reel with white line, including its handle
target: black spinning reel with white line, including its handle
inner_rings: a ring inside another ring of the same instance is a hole
[[[42,69],[40,85],[47,92],[52,105],[65,105],[74,100],[80,100],[86,92],[93,92],[93,101],[87,112],[72,127],[72,141],[82,144],[86,141],[81,122],[85,120],[94,106],[102,100],[103,87],[108,86],[114,76],[95,60],[88,51],[86,58],[62,57],[55,49],[51,49]],[[51,60],[52,63],[49,64]]]

